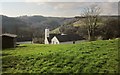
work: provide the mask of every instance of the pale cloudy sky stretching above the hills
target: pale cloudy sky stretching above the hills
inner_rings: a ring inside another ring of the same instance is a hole
[[[82,9],[96,4],[102,14],[117,14],[117,2],[16,2],[3,3],[3,14],[7,15],[43,15],[71,17],[80,15]]]

